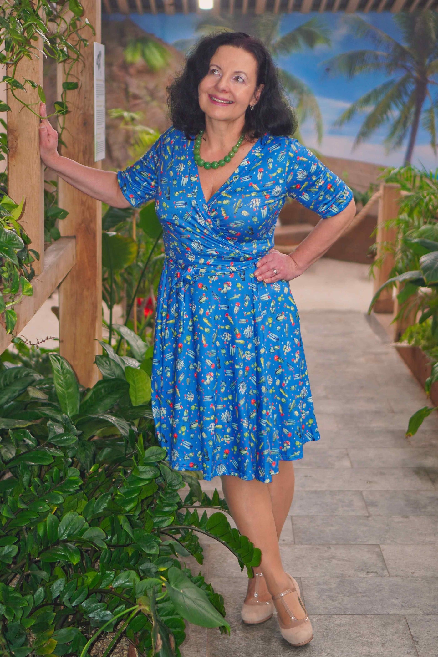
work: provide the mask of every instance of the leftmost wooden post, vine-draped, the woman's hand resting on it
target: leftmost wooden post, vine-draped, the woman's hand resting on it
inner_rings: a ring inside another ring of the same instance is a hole
[[[32,41],[38,51],[33,51],[32,59],[22,57],[15,70],[15,78],[31,79],[43,86],[43,56],[41,37]],[[12,66],[8,67],[7,75],[11,75]],[[35,274],[44,268],[44,165],[39,157],[39,96],[37,89],[30,84],[25,85],[26,91],[15,89],[16,97],[26,104],[32,104],[37,114],[32,114],[12,96],[11,89],[7,91],[8,112],[8,194],[16,203],[23,196],[26,199],[24,214],[20,219],[26,233],[32,240],[31,248],[39,253],[39,261],[35,260]]]

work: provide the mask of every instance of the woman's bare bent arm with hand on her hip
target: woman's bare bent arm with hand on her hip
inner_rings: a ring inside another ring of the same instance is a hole
[[[274,283],[274,281],[292,281],[303,271],[313,265],[342,235],[356,214],[353,199],[338,214],[320,219],[313,231],[298,244],[295,251],[286,256],[275,249],[257,262],[255,276],[257,281]],[[276,275],[273,273],[276,269]]]

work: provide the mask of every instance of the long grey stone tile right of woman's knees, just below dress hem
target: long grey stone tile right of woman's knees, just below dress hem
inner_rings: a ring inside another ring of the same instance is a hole
[[[431,490],[433,484],[420,468],[301,468],[296,471],[301,490]]]

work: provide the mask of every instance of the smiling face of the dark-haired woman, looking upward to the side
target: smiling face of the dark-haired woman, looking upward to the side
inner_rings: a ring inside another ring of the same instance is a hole
[[[208,74],[198,86],[199,106],[215,120],[244,117],[248,105],[257,102],[263,85],[256,90],[257,62],[251,53],[222,45],[211,58]]]

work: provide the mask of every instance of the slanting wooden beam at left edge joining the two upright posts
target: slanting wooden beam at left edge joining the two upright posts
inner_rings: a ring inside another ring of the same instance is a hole
[[[44,269],[32,281],[33,295],[26,296],[19,304],[14,306],[17,314],[14,335],[19,335],[24,330],[33,315],[47,301],[53,290],[56,290],[62,279],[72,269],[75,260],[76,240],[72,237],[61,237],[46,249]],[[11,334],[5,331],[3,326],[0,326],[0,353],[7,349],[12,337]]]

